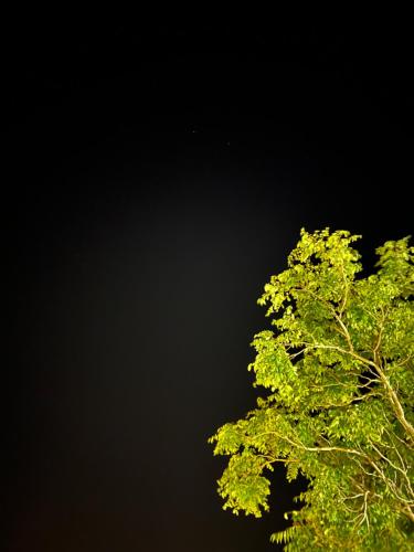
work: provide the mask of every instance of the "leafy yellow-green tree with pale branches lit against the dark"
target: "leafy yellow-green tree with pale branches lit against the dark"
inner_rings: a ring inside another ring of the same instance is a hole
[[[288,551],[414,550],[414,247],[386,242],[361,277],[359,237],[301,230],[258,299],[273,330],[248,369],[266,396],[209,439],[230,456],[219,493],[236,514],[268,510],[275,463],[306,478],[270,537]]]

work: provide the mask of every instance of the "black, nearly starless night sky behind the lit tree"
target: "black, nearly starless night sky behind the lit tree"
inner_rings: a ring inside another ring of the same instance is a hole
[[[264,18],[265,19],[265,18]],[[10,552],[265,552],[206,439],[254,407],[256,305],[309,231],[412,233],[396,26],[6,24]],[[8,360],[7,360],[8,359]]]

